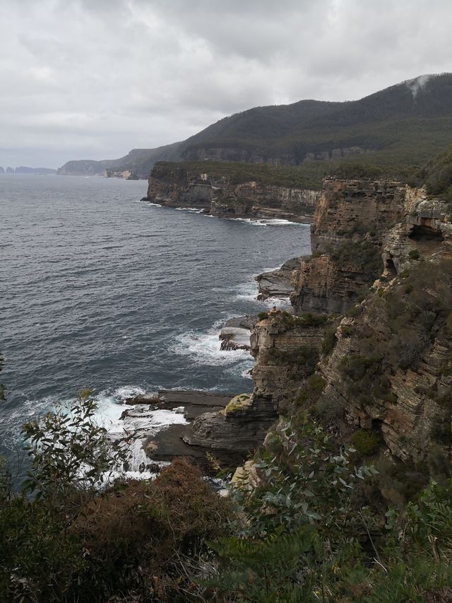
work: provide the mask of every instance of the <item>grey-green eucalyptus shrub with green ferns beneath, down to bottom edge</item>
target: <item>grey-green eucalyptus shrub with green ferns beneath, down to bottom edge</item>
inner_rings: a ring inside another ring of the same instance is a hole
[[[352,512],[352,492],[374,469],[352,467],[349,447],[335,445],[315,423],[301,433],[287,423],[274,437],[280,452],[256,455],[258,486],[232,490],[243,521],[215,546],[224,563],[210,580],[213,600],[319,600],[323,586],[332,595],[346,559],[356,564],[363,526]],[[372,517],[367,525],[374,526]]]

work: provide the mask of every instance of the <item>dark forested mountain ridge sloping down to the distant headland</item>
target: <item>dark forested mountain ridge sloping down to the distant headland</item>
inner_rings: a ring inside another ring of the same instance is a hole
[[[223,117],[182,142],[133,149],[124,158],[68,162],[74,170],[129,169],[148,177],[159,160],[220,160],[299,166],[362,156],[376,165],[422,163],[452,144],[452,74],[426,74],[359,100],[299,100]],[[422,143],[422,144],[421,144]],[[86,162],[85,162],[86,163]]]

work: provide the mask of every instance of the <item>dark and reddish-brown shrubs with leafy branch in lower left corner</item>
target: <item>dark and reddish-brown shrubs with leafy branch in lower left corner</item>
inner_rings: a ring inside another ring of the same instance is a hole
[[[105,450],[94,410],[83,395],[70,414],[59,408],[25,426],[25,487],[34,498],[8,496],[0,475],[0,600],[186,600],[186,587],[198,600],[186,559],[194,568],[206,554],[204,539],[226,533],[229,501],[184,460],[155,481],[119,480],[99,489],[117,458]]]

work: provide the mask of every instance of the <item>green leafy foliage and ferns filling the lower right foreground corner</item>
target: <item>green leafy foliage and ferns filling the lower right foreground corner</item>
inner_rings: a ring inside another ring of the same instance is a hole
[[[384,516],[362,507],[357,484],[376,472],[353,454],[315,423],[280,423],[232,491],[236,535],[211,544],[215,600],[452,600],[452,480]]]

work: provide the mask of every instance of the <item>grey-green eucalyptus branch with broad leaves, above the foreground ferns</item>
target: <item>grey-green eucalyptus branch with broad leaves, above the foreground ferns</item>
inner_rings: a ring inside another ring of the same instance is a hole
[[[335,445],[313,421],[304,423],[302,433],[288,423],[270,435],[255,462],[261,484],[232,490],[240,513],[247,517],[242,534],[263,536],[278,526],[296,529],[321,522],[330,539],[345,539],[350,522],[356,520],[350,492],[376,474],[374,467],[355,467],[354,452],[349,445]]]

